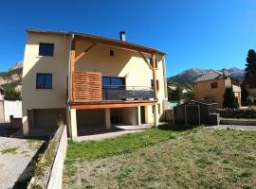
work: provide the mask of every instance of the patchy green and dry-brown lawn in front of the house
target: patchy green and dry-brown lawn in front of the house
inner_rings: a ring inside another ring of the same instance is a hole
[[[148,129],[70,143],[64,188],[255,188],[256,131]]]

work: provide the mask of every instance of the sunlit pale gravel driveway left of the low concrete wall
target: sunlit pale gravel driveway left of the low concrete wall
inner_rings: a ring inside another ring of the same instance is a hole
[[[12,188],[44,141],[0,136],[0,188]]]

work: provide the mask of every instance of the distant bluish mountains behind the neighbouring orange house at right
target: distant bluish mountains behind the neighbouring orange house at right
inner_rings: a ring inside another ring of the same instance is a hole
[[[192,82],[197,78],[205,74],[210,74],[214,72],[212,69],[197,69],[192,68],[189,70],[185,70],[180,74],[175,75],[174,77],[168,77],[167,80],[169,82],[176,82],[184,86],[190,86]],[[234,77],[238,80],[243,80],[245,75],[245,70],[241,70],[236,67],[232,67],[228,70],[229,77]]]

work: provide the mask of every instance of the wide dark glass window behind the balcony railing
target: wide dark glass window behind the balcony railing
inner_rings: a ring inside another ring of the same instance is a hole
[[[125,78],[124,77],[102,77],[103,89],[124,89]]]

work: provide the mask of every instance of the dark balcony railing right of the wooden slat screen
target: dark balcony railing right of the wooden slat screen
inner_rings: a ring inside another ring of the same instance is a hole
[[[144,86],[104,86],[102,88],[103,100],[137,100],[155,98],[155,92]]]

